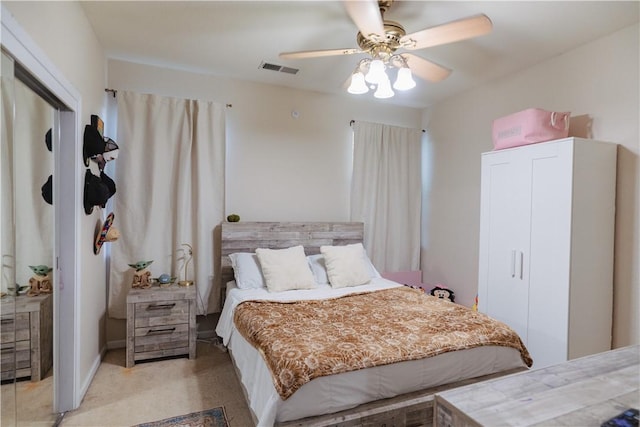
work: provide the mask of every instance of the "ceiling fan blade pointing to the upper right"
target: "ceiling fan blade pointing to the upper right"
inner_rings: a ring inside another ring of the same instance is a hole
[[[492,28],[491,19],[480,14],[407,34],[400,39],[400,44],[408,50],[424,49],[481,36]]]

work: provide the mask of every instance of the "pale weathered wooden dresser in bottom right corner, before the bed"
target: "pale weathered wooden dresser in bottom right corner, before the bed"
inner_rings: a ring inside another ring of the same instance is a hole
[[[640,346],[479,382],[435,396],[436,426],[599,426],[640,407]]]

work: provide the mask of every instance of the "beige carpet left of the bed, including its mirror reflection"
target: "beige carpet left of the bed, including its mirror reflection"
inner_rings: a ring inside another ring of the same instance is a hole
[[[33,383],[39,395],[46,396],[47,381],[51,396],[51,378]],[[17,391],[18,425],[51,426],[50,399],[45,399],[48,412],[30,409],[30,393],[20,390],[23,384],[18,383]],[[215,345],[199,341],[194,360],[144,362],[130,369],[125,368],[125,349],[118,349],[107,353],[80,408],[67,412],[61,425],[128,427],[218,406],[224,406],[229,427],[253,425],[229,355]]]

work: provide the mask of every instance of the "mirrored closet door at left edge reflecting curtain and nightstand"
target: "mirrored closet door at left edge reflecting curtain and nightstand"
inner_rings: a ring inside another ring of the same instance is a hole
[[[2,425],[53,412],[54,147],[56,109],[2,53]]]

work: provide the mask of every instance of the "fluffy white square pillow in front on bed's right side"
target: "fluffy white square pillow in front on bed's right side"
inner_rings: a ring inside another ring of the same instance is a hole
[[[334,288],[369,283],[373,277],[362,243],[345,246],[321,246],[329,283]]]

